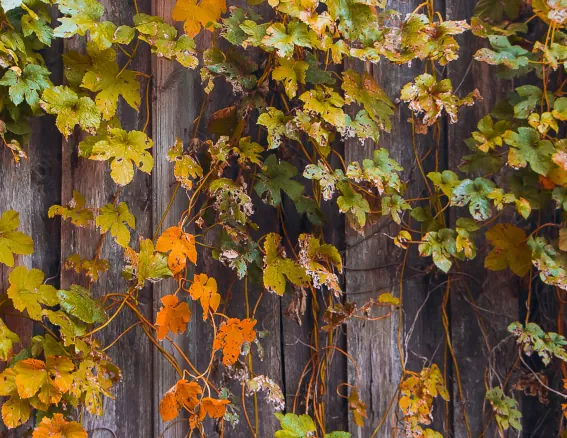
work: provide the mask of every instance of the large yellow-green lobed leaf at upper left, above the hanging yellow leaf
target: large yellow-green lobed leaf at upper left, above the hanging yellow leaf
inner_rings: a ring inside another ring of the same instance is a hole
[[[140,107],[140,82],[132,70],[121,69],[116,63],[114,49],[96,50],[87,46],[92,66],[83,76],[81,87],[97,93],[95,102],[104,120],[110,120],[122,98],[135,110]]]

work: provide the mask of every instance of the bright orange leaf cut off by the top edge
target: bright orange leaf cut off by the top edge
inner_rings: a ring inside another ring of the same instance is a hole
[[[185,33],[194,37],[201,31],[201,26],[212,31],[223,12],[226,12],[226,0],[177,0],[172,18],[185,21]]]

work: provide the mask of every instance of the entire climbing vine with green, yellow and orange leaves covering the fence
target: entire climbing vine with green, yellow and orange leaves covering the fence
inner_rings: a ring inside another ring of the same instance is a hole
[[[121,374],[129,372],[118,369],[107,354],[115,341],[102,345],[98,334],[123,312],[131,312],[178,374],[159,404],[164,422],[185,418],[191,433],[202,435],[206,421],[216,422],[221,434],[231,423],[246,421],[256,437],[257,423],[243,401],[256,400],[257,393],[264,392],[281,423],[276,437],[349,437],[349,432],[327,430],[322,391],[309,391],[299,412],[295,403],[293,409],[286,406],[282,389],[270,376],[255,374],[252,368],[253,360],[262,357],[262,338],[270,336],[256,319],[259,302],[268,294],[298,297],[291,311],[297,320],[303,317],[305,300],[327,306],[325,325],[314,334],[317,350],[306,368],[313,373],[312,388],[327,384],[325,370],[335,355],[352,360],[333,342],[344,324],[385,319],[401,310],[402,302],[392,293],[358,307],[345,297],[343,257],[325,241],[323,204],[336,207],[347,226],[361,234],[378,220],[391,221],[397,227],[389,236],[395,245],[404,251],[417,248],[440,276],[459,270],[462,262],[477,257],[477,245],[485,245],[487,270],[509,269],[527,281],[537,276],[536,281],[556,288],[563,300],[567,3],[480,0],[471,22],[444,20],[433,0],[405,16],[387,9],[384,0],[259,3],[235,7],[225,0],[177,0],[172,17],[137,13],[124,23],[113,23],[105,21],[105,9],[96,0],[0,0],[0,137],[13,157],[2,165],[17,166],[28,159],[25,144],[32,119],[49,114],[65,138],[80,139],[80,159],[107,163],[116,185],[113,201],[106,205],[88,205],[84,194],[75,191],[67,205],[53,205],[46,212],[52,220],[100,230],[91,253],[65,260],[63,269],[84,280],[68,290],[56,289],[43,272],[23,266],[22,257],[33,253],[34,242],[19,231],[17,211],[0,212],[0,263],[10,268],[9,287],[0,297],[2,312],[17,313],[42,329],[32,339],[20,339],[0,319],[0,359],[5,365],[0,396],[5,397],[6,427],[17,428],[31,419],[33,438],[86,437],[74,414],[104,415],[103,399],[112,397]],[[52,16],[58,17],[56,22]],[[168,24],[170,18],[183,22],[184,32]],[[485,46],[471,62],[496,66],[503,79],[531,78],[531,85],[517,86],[478,122],[466,141],[470,154],[458,168],[442,167],[439,142],[432,146],[435,171],[425,174],[425,156],[416,152],[427,193],[411,199],[403,168],[381,146],[381,136],[398,123],[394,116],[400,106],[411,111],[407,123],[414,138],[438,138],[444,123],[458,122],[462,107],[482,99],[477,90],[463,95],[444,75],[443,67],[459,57],[459,35],[467,32]],[[201,33],[212,36],[204,51],[194,41]],[[83,41],[83,50],[65,51],[64,80],[54,83],[43,49],[70,38]],[[128,131],[117,109],[125,104],[149,114],[152,78],[132,69],[144,44],[154,56],[195,70],[207,95],[228,86],[235,98],[209,120],[203,120],[205,100],[190,142],[178,139],[171,145],[167,159],[177,184],[173,197],[187,196],[187,208],[175,218],[175,226],[162,229],[168,209],[155,235],[135,241],[131,233],[138,218],[121,200],[121,190],[137,172],[152,172],[154,143],[148,134],[149,116],[141,130]],[[397,95],[389,96],[373,75],[349,68],[353,60],[403,65],[421,61],[423,69]],[[207,135],[197,135],[205,123]],[[361,162],[345,162],[339,146],[346,140],[349,147],[357,147],[352,140],[377,146]],[[281,232],[256,223],[261,204],[275,210]],[[304,216],[311,231],[293,240],[283,220],[284,206]],[[551,219],[542,222],[549,211]],[[246,297],[247,311],[240,317],[227,316],[230,294],[210,272],[196,268],[199,246],[208,246],[205,238],[211,235],[217,262],[232,269],[246,288],[248,282],[257,282],[264,290],[254,306]],[[103,245],[123,249],[123,266],[111,266],[102,258]],[[111,268],[122,271],[124,290],[100,290],[97,282]],[[158,281],[175,284],[176,291],[161,297],[156,319],[150,321],[138,308],[138,297],[143,287]],[[447,293],[449,287],[450,281]],[[385,316],[376,317],[377,308],[385,310]],[[198,317],[191,309],[201,309],[198,316],[213,339],[206,369],[197,369],[172,337]],[[443,322],[446,328],[446,315]],[[560,363],[567,379],[562,363],[567,362],[567,340],[561,325],[557,331],[546,332],[530,320],[529,312],[524,322],[509,327],[520,359],[537,355],[544,366]],[[182,359],[167,353],[163,343],[171,344]],[[451,348],[450,354],[455,360]],[[434,363],[419,370],[402,363],[402,368],[392,401],[397,406],[392,409],[395,433],[443,436],[431,424],[436,400],[449,400],[445,375]],[[242,386],[241,398],[213,379],[218,369]],[[485,384],[491,421],[500,434],[521,430],[508,379]],[[337,397],[348,400],[357,425],[367,421],[360,385],[364,382],[336,388]],[[286,408],[286,414],[280,412]],[[382,424],[372,425],[374,436]]]

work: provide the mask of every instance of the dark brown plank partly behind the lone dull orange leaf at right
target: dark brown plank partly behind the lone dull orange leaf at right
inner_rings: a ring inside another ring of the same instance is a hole
[[[474,6],[475,2],[447,0],[446,18],[470,20]],[[462,157],[470,152],[464,139],[471,136],[478,121],[511,91],[513,85],[512,81],[498,79],[495,68],[473,59],[474,53],[484,47],[486,41],[470,32],[458,40],[461,46],[459,59],[448,65],[447,77],[451,79],[458,95],[464,96],[477,88],[484,99],[477,101],[473,107],[461,109],[458,123],[448,127],[448,168],[452,170],[456,170]],[[456,213],[451,213],[451,226],[454,227]],[[462,209],[459,211],[461,215],[468,216],[468,212]],[[513,220],[512,216],[504,221]],[[485,231],[481,230],[479,234]],[[477,246],[486,248],[482,240],[477,242]],[[485,428],[490,414],[490,406],[484,401],[485,372],[492,378],[495,377],[494,373],[498,373],[503,381],[517,357],[513,339],[503,344],[499,342],[508,335],[508,324],[518,317],[517,297],[522,282],[509,271],[486,270],[486,254],[487,251],[479,251],[475,260],[461,264],[461,269],[457,269],[452,276],[448,311],[451,314],[451,341],[460,383],[453,366],[451,398],[453,433],[459,437],[479,436]],[[491,351],[497,344],[498,349]],[[463,388],[463,397],[459,394],[459,384]],[[491,385],[498,385],[498,381],[491,381]]]

